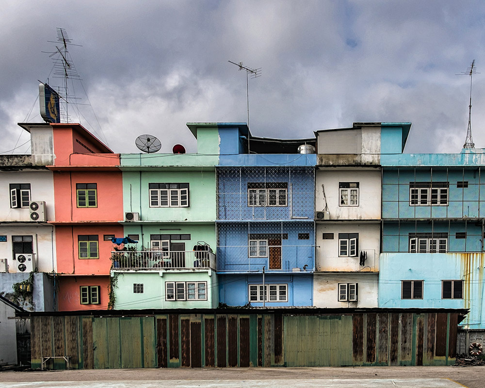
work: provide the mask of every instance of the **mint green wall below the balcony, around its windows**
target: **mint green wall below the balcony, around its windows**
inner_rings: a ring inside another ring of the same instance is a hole
[[[219,305],[217,275],[213,271],[137,271],[116,273],[114,309],[216,308]],[[210,276],[209,276],[210,274]],[[207,282],[205,301],[166,301],[165,282]],[[143,293],[133,293],[133,284],[143,284]]]

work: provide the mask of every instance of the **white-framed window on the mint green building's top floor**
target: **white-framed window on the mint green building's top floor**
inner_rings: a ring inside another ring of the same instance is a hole
[[[189,207],[188,183],[148,183],[150,208]]]

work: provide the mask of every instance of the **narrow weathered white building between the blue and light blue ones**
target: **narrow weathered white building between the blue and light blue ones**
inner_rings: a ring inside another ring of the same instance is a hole
[[[381,123],[316,131],[316,307],[377,307]]]

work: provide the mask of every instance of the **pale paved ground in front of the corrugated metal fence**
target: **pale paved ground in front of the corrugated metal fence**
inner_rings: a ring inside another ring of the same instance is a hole
[[[0,388],[483,388],[485,367],[105,369],[2,372]]]

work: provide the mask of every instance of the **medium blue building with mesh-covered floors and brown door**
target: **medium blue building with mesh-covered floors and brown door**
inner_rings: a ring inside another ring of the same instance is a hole
[[[257,138],[245,124],[218,128],[220,302],[313,306],[315,139]]]

